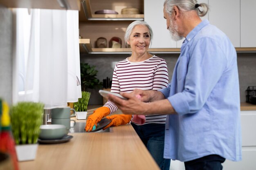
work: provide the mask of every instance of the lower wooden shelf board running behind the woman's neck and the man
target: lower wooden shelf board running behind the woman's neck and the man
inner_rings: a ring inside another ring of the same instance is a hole
[[[106,54],[106,53],[131,53],[131,49],[120,48],[92,48],[90,44],[90,39],[79,39],[80,53],[89,54]],[[256,53],[256,47],[253,48],[236,48],[238,53]],[[151,53],[180,53],[180,48],[158,48],[158,49],[148,49]]]

